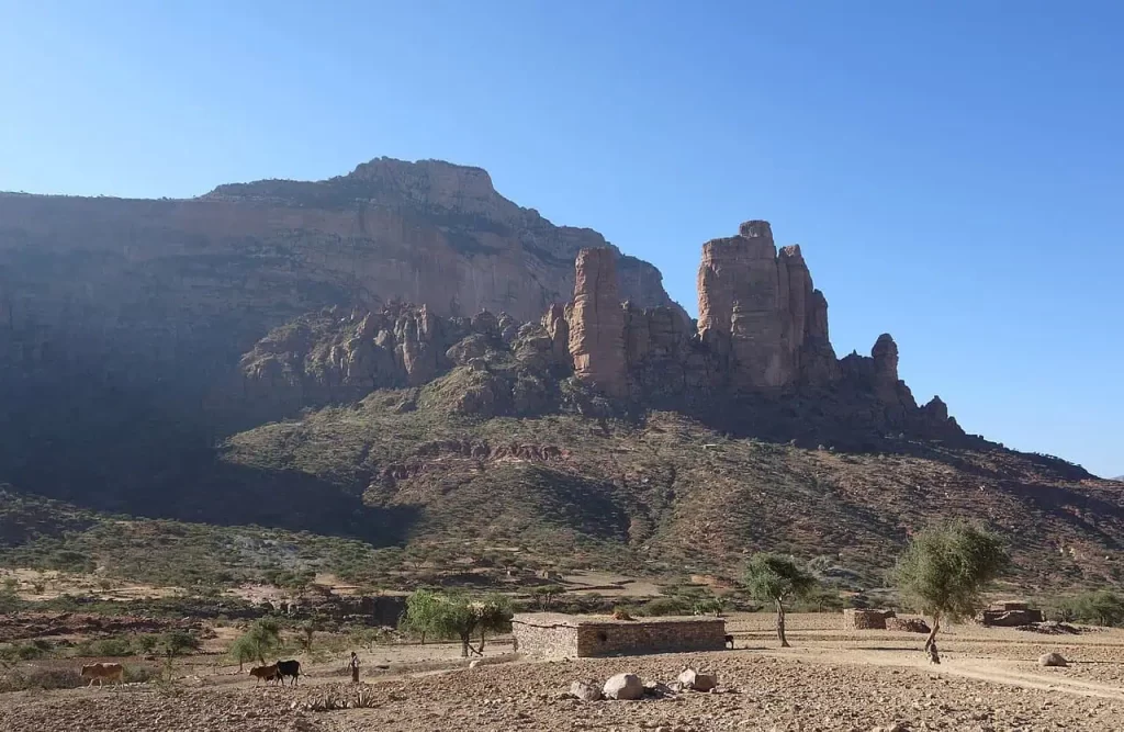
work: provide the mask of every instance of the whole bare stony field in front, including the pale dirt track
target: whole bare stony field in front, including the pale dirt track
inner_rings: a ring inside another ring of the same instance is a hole
[[[732,618],[736,650],[697,654],[532,661],[510,645],[465,668],[451,644],[364,652],[360,687],[342,661],[309,663],[297,688],[255,687],[236,668],[185,665],[171,685],[0,695],[0,730],[1121,730],[1124,631],[1039,635],[957,626],[930,666],[923,636],[842,631],[840,615],[790,615],[792,649],[771,618]],[[1057,651],[1068,668],[1040,668]],[[718,675],[716,694],[640,702],[566,698],[575,679],[622,671],[671,681],[691,665]],[[321,711],[355,704],[365,708]],[[334,702],[334,704],[333,704]],[[897,726],[895,726],[897,725]]]

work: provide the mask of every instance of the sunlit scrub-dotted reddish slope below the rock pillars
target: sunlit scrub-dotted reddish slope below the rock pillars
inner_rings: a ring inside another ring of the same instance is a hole
[[[773,549],[828,557],[877,586],[909,532],[960,516],[1010,542],[1025,587],[1120,572],[1120,490],[1053,459],[915,441],[805,449],[669,412],[478,419],[436,398],[457,376],[241,433],[224,461],[409,508],[411,546],[465,557],[509,546],[540,566],[734,573],[746,552]]]

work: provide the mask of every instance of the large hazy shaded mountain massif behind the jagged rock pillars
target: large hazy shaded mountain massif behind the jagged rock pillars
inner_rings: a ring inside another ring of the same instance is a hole
[[[247,388],[289,385],[280,401],[309,404],[407,372],[418,383],[445,365],[453,338],[427,329],[436,319],[484,308],[508,327],[537,319],[571,297],[578,252],[605,246],[516,206],[483,170],[437,161],[380,159],[326,181],[223,186],[192,200],[0,193],[0,472],[75,486],[97,485],[90,471],[107,484],[128,472],[142,485],[137,461],[165,443],[206,450],[229,432],[215,407],[237,389],[242,354],[324,308],[390,310],[378,329],[393,342],[363,341],[347,363],[314,349],[324,371],[311,379],[303,356],[254,358],[263,370]],[[611,251],[625,297],[686,319],[654,266]],[[400,302],[425,316],[399,323]],[[343,358],[347,344],[336,345]]]

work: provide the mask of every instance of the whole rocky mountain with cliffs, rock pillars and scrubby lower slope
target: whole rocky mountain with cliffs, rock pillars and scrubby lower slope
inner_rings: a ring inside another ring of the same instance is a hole
[[[1008,536],[1024,584],[1118,573],[1117,487],[918,405],[888,334],[837,358],[763,220],[703,244],[695,322],[650,264],[479,169],[3,196],[0,307],[13,490],[543,564],[774,548],[864,581],[959,515]]]

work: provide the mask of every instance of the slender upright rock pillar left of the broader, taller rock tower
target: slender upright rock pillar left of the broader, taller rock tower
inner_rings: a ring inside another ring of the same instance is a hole
[[[628,381],[616,257],[605,247],[586,248],[578,253],[574,269],[573,304],[566,317],[574,376],[609,396],[623,397]]]

